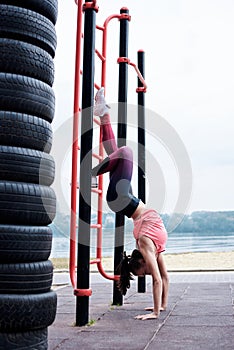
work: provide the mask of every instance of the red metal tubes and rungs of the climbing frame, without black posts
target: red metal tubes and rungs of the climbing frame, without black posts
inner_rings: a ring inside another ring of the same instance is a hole
[[[77,4],[77,37],[76,37],[76,60],[75,60],[75,85],[74,85],[74,114],[73,114],[73,146],[72,146],[72,179],[71,179],[71,219],[70,219],[70,279],[72,286],[74,288],[74,294],[78,295],[79,291],[76,289],[76,250],[77,250],[77,174],[78,174],[78,152],[79,152],[79,115],[81,111],[80,107],[80,97],[81,97],[81,51],[82,51],[82,27],[83,27],[83,10],[87,7],[93,8],[98,12],[97,1],[93,0],[90,2],[85,2],[83,4],[82,0],[75,0]],[[107,57],[107,28],[108,24],[112,19],[127,19],[131,20],[131,17],[126,14],[115,14],[109,16],[103,26],[96,26],[96,29],[102,32],[102,50],[101,52],[97,49],[95,50],[97,57],[101,60],[101,84],[100,86],[106,86],[106,57]],[[137,88],[137,92],[146,91],[145,80],[142,77],[137,66],[132,63],[126,57],[119,57],[117,62],[126,62],[131,65],[138,75],[143,87]],[[95,84],[97,89],[100,88],[98,84]],[[139,90],[140,89],[140,90]],[[97,118],[94,118],[94,122],[100,125],[100,122]],[[100,144],[99,144],[99,153],[93,154],[93,157],[101,161],[103,159],[103,146],[101,143],[101,134],[100,134]],[[104,271],[102,265],[102,203],[103,203],[103,176],[99,176],[98,188],[93,188],[92,192],[98,195],[98,209],[97,209],[97,223],[91,225],[91,228],[97,229],[97,249],[96,249],[96,259],[91,260],[91,264],[97,264],[97,268],[101,275],[109,280],[118,280],[119,276],[109,275]],[[87,291],[86,291],[87,292]],[[88,291],[90,296],[92,293],[91,290]],[[80,295],[80,294],[79,294]]]

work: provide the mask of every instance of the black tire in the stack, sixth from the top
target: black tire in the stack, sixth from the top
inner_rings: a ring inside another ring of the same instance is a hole
[[[50,186],[54,174],[51,155],[29,148],[0,146],[0,180]]]

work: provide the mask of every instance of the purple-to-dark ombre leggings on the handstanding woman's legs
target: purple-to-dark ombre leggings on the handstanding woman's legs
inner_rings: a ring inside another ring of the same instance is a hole
[[[132,150],[127,146],[117,147],[110,117],[107,114],[101,118],[101,132],[103,146],[108,157],[93,168],[92,175],[110,173],[110,183],[106,195],[108,206],[115,213],[121,213],[130,218],[140,202],[138,198],[133,196],[131,188]]]

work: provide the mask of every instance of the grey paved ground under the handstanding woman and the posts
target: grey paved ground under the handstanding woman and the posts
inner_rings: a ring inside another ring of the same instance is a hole
[[[220,279],[219,279],[220,276]],[[134,316],[152,306],[151,281],[146,293],[136,282],[122,306],[112,306],[112,282],[91,276],[90,326],[75,327],[72,287],[54,286],[58,295],[56,320],[49,327],[49,350],[233,350],[234,273],[170,276],[169,304],[159,319]]]

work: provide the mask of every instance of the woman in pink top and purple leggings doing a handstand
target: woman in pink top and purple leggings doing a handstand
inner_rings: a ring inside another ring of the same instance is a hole
[[[92,176],[110,173],[107,203],[112,211],[133,219],[133,235],[138,249],[131,256],[124,254],[120,267],[119,290],[125,295],[130,288],[132,274],[151,275],[154,306],[146,308],[152,313],[136,316],[137,319],[158,318],[167,307],[169,279],[161,254],[165,250],[167,232],[159,214],[147,209],[145,204],[132,194],[132,150],[118,148],[110,123],[109,107],[106,105],[104,88],[95,97],[94,115],[100,117],[102,141],[108,157],[92,170]]]

